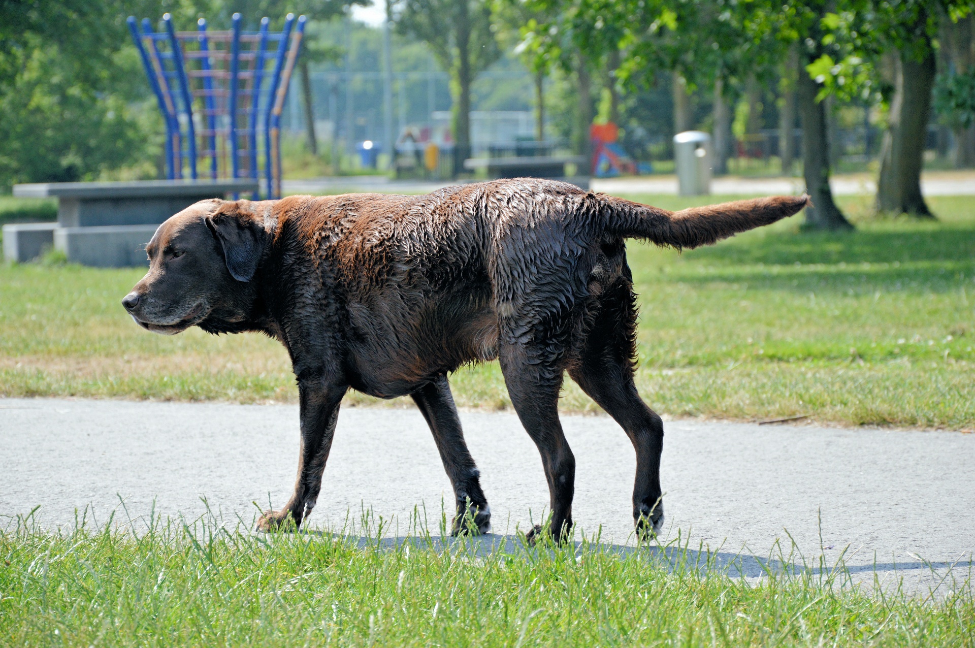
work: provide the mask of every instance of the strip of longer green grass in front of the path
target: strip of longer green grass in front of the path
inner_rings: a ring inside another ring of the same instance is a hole
[[[52,534],[20,519],[0,531],[0,637],[18,646],[975,645],[970,575],[954,591],[906,592],[852,586],[841,563],[821,557],[785,556],[746,579],[679,544],[529,549],[509,536],[489,539],[490,551],[478,539],[445,547],[422,528],[405,542],[382,536],[374,527],[362,537],[261,536],[211,519]]]

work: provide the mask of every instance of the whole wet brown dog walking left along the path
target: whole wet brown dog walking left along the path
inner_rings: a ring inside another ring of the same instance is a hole
[[[490,510],[450,396],[448,372],[498,358],[542,457],[551,530],[572,524],[575,460],[557,403],[565,371],[637,451],[633,516],[663,519],[660,417],[634,386],[637,310],[624,240],[695,248],[801,210],[803,197],[670,212],[550,180],[450,187],[427,196],[205,201],[160,225],[146,276],[123,300],[148,330],[261,331],[292,358],[301,416],[298,475],[268,530],[315,506],[338,406],[350,387],[409,395],[430,424],[465,516]]]

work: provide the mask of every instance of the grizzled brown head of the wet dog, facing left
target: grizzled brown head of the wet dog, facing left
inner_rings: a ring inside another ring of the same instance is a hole
[[[227,330],[254,305],[254,275],[270,234],[247,201],[201,201],[159,226],[145,247],[149,272],[122,300],[137,324],[173,335]]]

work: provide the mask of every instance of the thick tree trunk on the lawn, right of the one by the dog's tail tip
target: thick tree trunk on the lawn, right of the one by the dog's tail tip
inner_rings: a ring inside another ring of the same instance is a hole
[[[920,60],[906,53],[901,55],[894,97],[890,101],[890,126],[883,134],[880,151],[878,210],[934,217],[920,193],[934,76],[935,59],[930,43]]]

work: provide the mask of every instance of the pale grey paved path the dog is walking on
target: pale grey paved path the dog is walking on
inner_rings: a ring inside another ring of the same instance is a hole
[[[461,419],[495,538],[526,530],[548,503],[534,445],[514,414]],[[632,446],[606,416],[563,423],[579,530],[632,545]],[[666,422],[665,435],[664,542],[744,556],[752,576],[756,559],[788,557],[793,540],[807,561],[845,552],[863,578],[876,567],[912,587],[972,571],[975,435],[683,420]],[[116,522],[152,511],[192,519],[208,506],[225,524],[239,517],[253,528],[254,502],[277,507],[290,494],[298,414],[294,405],[0,399],[0,447],[0,528],[37,506],[52,528],[73,526],[86,507],[100,525],[113,511]],[[310,521],[335,529],[369,509],[403,536],[414,507],[425,507],[436,533],[450,499],[417,410],[345,408]]]

